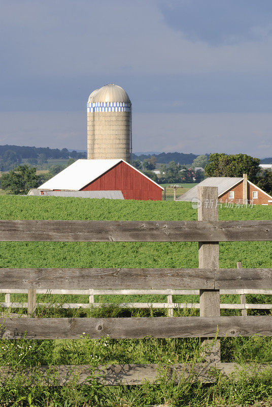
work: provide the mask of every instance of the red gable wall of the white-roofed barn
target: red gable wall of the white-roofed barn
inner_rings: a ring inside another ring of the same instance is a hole
[[[161,188],[125,162],[120,162],[82,191],[122,191],[125,199],[161,200]]]

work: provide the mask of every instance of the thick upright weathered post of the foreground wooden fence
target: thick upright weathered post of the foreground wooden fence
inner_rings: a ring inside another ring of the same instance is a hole
[[[198,220],[218,220],[218,188],[197,187]],[[198,242],[198,263],[200,269],[219,269],[219,242]],[[220,291],[199,290],[200,316],[220,316]],[[212,340],[205,340],[209,344]],[[220,340],[206,354],[211,363],[220,362]]]

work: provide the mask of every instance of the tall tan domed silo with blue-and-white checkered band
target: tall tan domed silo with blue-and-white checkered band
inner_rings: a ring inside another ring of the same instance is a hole
[[[93,91],[87,103],[88,159],[131,160],[131,102],[113,83]]]

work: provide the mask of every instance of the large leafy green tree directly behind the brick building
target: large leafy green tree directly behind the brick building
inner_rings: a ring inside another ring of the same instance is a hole
[[[209,177],[243,177],[247,174],[251,182],[258,180],[260,160],[247,154],[214,153],[208,162],[205,172]]]

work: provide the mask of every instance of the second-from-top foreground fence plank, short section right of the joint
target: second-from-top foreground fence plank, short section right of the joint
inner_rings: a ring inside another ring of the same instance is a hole
[[[272,269],[220,269],[215,272],[217,289],[265,289],[272,287]]]

